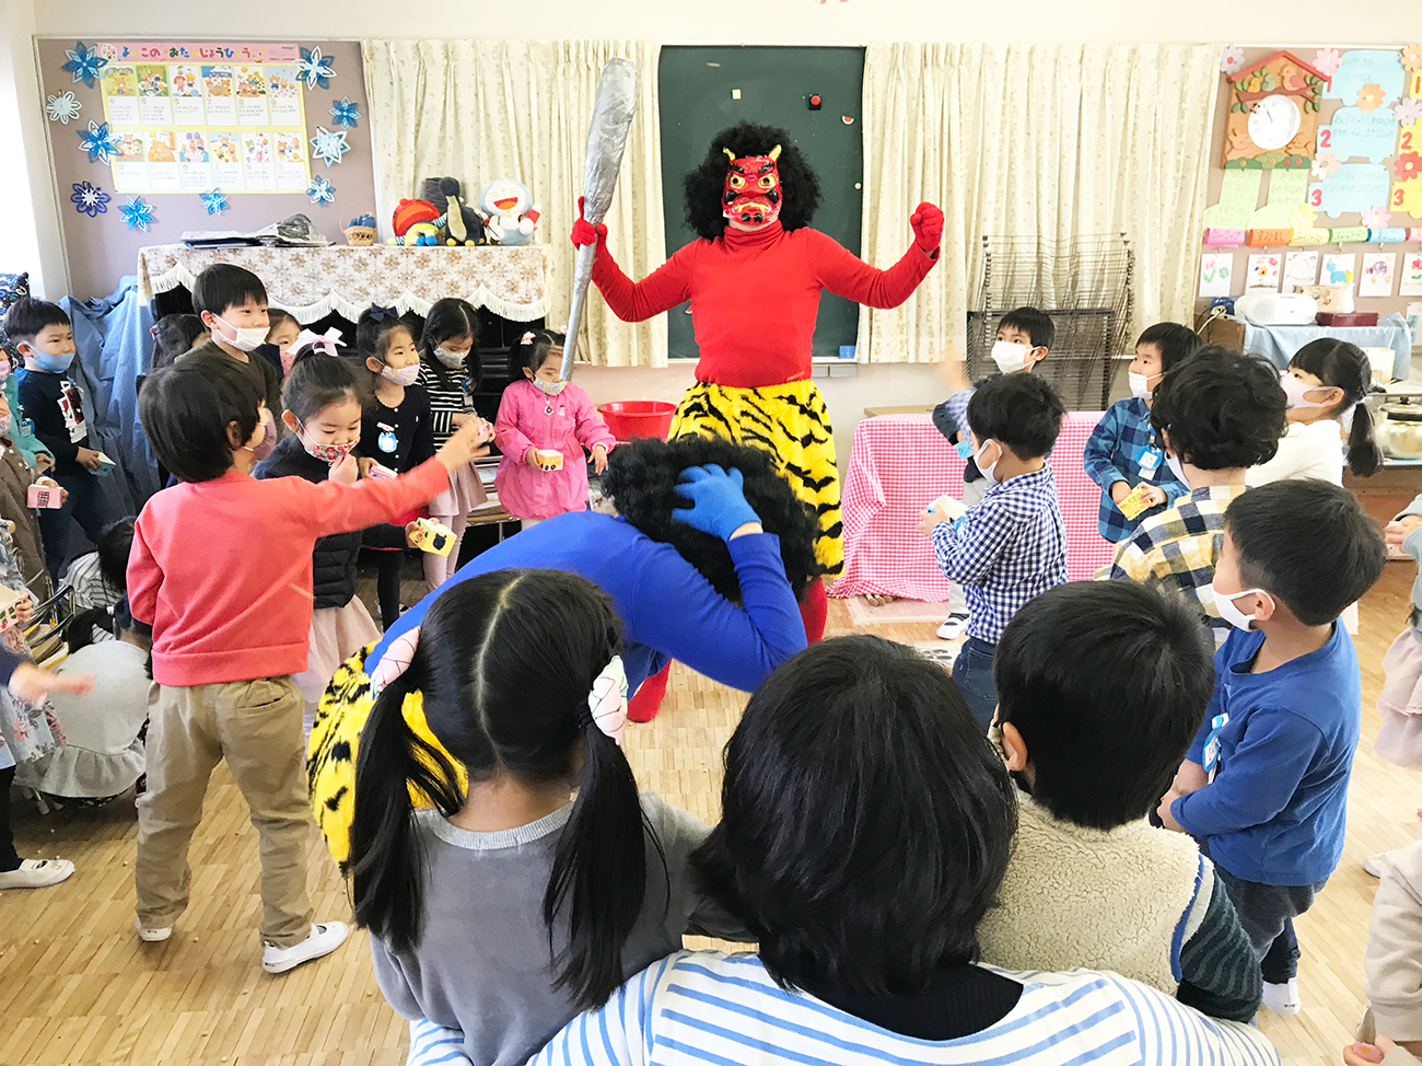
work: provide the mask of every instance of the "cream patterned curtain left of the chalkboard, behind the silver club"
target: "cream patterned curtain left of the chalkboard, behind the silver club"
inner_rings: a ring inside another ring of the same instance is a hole
[[[613,255],[633,278],[665,259],[661,138],[654,41],[365,40],[365,94],[375,131],[384,228],[425,178],[452,175],[471,201],[493,178],[512,176],[542,208],[536,241],[550,246],[549,313],[555,329],[572,300],[573,248],[583,185],[587,120],[603,65],[637,65],[637,114],[617,195],[607,212]],[[586,303],[580,357],[604,366],[665,366],[665,316],[630,324],[596,295]]]

